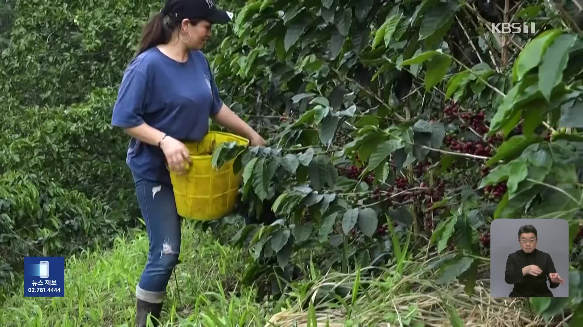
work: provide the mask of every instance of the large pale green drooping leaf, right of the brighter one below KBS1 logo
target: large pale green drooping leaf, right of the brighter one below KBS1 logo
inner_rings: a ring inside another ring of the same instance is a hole
[[[553,87],[558,81],[563,80],[563,70],[569,61],[569,49],[575,40],[577,40],[576,34],[557,36],[542,57],[539,67],[539,88],[547,102],[550,102]]]

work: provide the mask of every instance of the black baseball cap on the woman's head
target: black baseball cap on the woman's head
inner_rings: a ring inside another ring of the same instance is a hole
[[[233,13],[216,8],[213,0],[167,0],[160,12],[179,20],[202,18],[213,24],[226,24],[233,19]]]

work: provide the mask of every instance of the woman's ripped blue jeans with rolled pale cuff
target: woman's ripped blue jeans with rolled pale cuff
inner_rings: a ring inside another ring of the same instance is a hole
[[[147,263],[136,286],[136,297],[161,303],[166,286],[180,254],[180,221],[172,186],[151,180],[138,180],[136,196],[146,223],[150,248]]]

